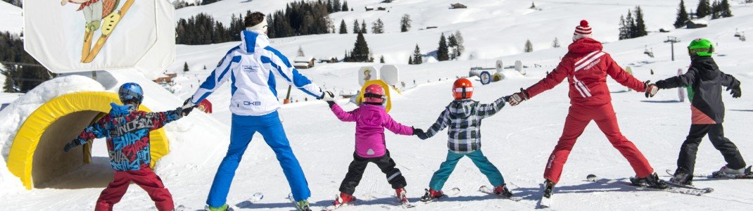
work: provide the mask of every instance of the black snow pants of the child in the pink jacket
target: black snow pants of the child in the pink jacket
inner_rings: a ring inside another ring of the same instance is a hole
[[[355,186],[358,186],[358,183],[361,182],[361,176],[364,176],[364,170],[369,163],[377,164],[382,173],[387,175],[387,182],[392,185],[393,189],[403,188],[407,185],[405,177],[398,168],[395,168],[395,161],[392,160],[392,157],[389,157],[389,151],[382,157],[371,158],[360,157],[353,153],[353,161],[350,163],[348,173],[340,185],[340,192],[352,195],[355,192]]]

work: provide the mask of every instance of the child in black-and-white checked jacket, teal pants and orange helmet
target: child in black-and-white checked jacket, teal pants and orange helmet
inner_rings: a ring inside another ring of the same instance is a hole
[[[434,200],[442,197],[444,182],[450,178],[455,166],[463,157],[471,158],[471,161],[481,170],[492,183],[494,193],[502,197],[512,197],[513,194],[505,186],[505,178],[497,167],[481,152],[481,121],[491,117],[505,107],[506,97],[501,97],[490,104],[482,104],[471,99],[473,96],[473,84],[466,78],[460,78],[453,84],[453,96],[455,100],[447,105],[447,108],[439,115],[437,121],[426,130],[426,133],[417,133],[420,139],[428,139],[439,131],[447,130],[447,160],[442,162],[439,170],[434,172],[429,182],[429,189],[421,197],[422,201]],[[419,130],[420,131],[420,130]]]

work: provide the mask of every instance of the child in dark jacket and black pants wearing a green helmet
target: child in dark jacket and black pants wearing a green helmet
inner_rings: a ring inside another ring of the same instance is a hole
[[[680,156],[677,159],[677,170],[670,179],[683,185],[691,185],[693,171],[696,164],[696,152],[698,145],[706,134],[716,149],[721,151],[727,165],[721,167],[714,175],[742,176],[745,175],[745,161],[736,145],[724,137],[724,102],[721,101],[721,87],[727,87],[733,98],[742,95],[740,81],[732,75],[724,74],[716,65],[712,54],[714,46],[708,39],[698,38],[691,41],[687,46],[691,56],[691,67],[684,75],[666,78],[650,86],[659,89],[671,89],[676,87],[692,87],[691,96],[691,131],[687,134],[685,142],[680,148]],[[654,92],[655,93],[655,92]],[[651,93],[649,96],[653,96]]]

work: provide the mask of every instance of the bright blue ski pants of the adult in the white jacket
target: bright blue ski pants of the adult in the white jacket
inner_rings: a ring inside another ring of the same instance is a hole
[[[300,169],[300,164],[293,154],[277,112],[262,116],[233,115],[230,146],[215,174],[206,204],[218,207],[227,203],[227,193],[230,191],[230,183],[233,182],[238,164],[245,149],[248,148],[248,143],[257,132],[261,133],[267,145],[275,151],[282,172],[288,179],[294,200],[306,200],[311,196],[306,176],[303,175],[303,170]]]

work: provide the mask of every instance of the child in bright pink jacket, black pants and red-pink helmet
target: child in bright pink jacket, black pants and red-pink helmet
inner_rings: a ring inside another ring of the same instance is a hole
[[[413,136],[422,134],[420,129],[413,129],[399,124],[393,120],[385,111],[383,105],[386,103],[384,89],[380,85],[371,84],[364,91],[364,102],[358,109],[351,112],[345,112],[340,105],[331,98],[332,93],[325,94],[325,100],[329,103],[332,112],[340,121],[355,121],[355,153],[353,161],[348,167],[348,173],[340,184],[340,197],[333,202],[334,206],[342,206],[352,203],[355,200],[353,193],[355,187],[361,182],[361,176],[366,170],[369,163],[377,164],[377,167],[386,174],[387,182],[395,189],[395,195],[401,203],[408,203],[405,196],[405,177],[398,168],[395,168],[395,161],[389,156],[387,150],[384,129],[392,133]]]

